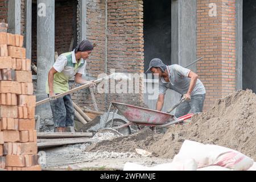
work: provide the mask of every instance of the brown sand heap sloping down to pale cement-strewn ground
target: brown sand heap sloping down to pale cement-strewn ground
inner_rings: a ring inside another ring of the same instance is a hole
[[[256,95],[240,90],[216,101],[207,113],[196,114],[189,125],[175,125],[166,134],[143,129],[129,136],[105,136],[96,142],[47,151],[51,161],[46,168],[75,165],[121,169],[126,162],[147,166],[170,162],[184,140],[217,144],[240,151],[256,160]],[[152,152],[149,158],[135,153],[135,148]],[[65,160],[64,160],[65,159]],[[85,160],[85,162],[83,162]],[[74,164],[74,163],[82,164]],[[69,164],[68,164],[69,163]],[[117,165],[116,165],[117,164]]]

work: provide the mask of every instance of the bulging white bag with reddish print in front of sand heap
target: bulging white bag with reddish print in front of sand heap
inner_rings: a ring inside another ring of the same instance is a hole
[[[189,140],[185,140],[179,154],[175,157],[174,162],[177,158],[195,159],[199,168],[221,166],[236,171],[246,171],[253,166],[252,159],[236,150],[212,144],[204,145]]]

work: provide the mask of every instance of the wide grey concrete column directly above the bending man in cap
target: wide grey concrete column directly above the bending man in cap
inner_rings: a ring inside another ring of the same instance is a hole
[[[196,60],[196,0],[172,0],[171,8],[172,64],[185,67]]]

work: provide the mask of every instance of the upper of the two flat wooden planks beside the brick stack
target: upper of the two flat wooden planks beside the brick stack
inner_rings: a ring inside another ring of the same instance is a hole
[[[92,133],[37,133],[38,138],[79,138],[92,137]]]

